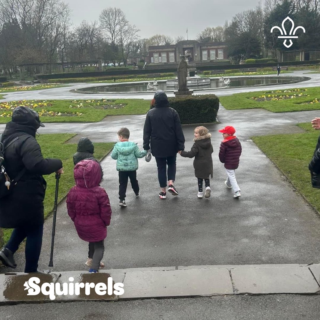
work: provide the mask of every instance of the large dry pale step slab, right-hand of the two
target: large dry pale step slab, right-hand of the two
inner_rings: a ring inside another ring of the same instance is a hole
[[[232,268],[235,293],[317,293],[320,287],[309,268],[259,267]]]

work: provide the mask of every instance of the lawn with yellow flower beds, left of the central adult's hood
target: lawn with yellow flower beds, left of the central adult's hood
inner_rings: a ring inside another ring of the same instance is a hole
[[[150,108],[143,99],[100,100],[23,100],[0,102],[0,123],[11,120],[20,105],[36,110],[42,122],[98,122],[106,116],[142,115]]]

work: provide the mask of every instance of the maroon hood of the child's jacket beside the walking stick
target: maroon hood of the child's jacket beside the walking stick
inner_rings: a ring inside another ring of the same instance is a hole
[[[94,160],[82,160],[73,170],[76,185],[80,188],[93,188],[99,186],[102,180],[101,168]]]

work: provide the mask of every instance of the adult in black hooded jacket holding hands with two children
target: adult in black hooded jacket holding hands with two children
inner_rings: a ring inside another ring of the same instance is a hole
[[[180,118],[176,110],[169,107],[168,97],[162,90],[157,90],[154,96],[154,108],[148,111],[143,128],[143,148],[151,147],[156,158],[158,180],[161,191],[159,197],[166,198],[167,178],[168,191],[178,195],[174,187],[176,176],[177,152],[184,150],[184,135]],[[167,176],[168,166],[168,176]]]

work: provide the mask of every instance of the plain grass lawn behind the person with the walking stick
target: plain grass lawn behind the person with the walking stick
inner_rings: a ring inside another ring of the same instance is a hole
[[[73,154],[76,152],[76,144],[65,143],[72,138],[74,134],[58,133],[58,134],[43,134],[37,137],[37,140],[41,146],[42,154],[45,158],[59,158],[63,164],[64,173],[60,177],[59,181],[59,199],[61,201],[63,197],[68,193],[75,185],[73,178]],[[95,143],[94,144],[94,156],[96,159],[101,160],[108,152],[113,148],[114,143]],[[47,217],[53,211],[54,195],[56,179],[55,173],[48,176],[44,176],[47,181],[47,189],[44,199],[44,216]],[[12,229],[4,230],[4,241],[7,241],[11,235]]]

